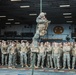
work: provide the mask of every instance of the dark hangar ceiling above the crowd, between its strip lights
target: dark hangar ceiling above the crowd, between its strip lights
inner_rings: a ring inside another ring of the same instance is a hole
[[[28,8],[20,8],[20,6],[29,5]],[[70,7],[60,7],[60,5],[70,5]],[[76,0],[43,0],[43,12],[46,12],[47,19],[51,20],[51,24],[66,24],[66,21],[72,21],[76,24]],[[20,24],[36,24],[36,17],[40,13],[40,0],[0,0],[0,25],[14,25],[15,22]],[[72,13],[71,18],[64,18],[63,13]],[[30,16],[29,14],[37,14]],[[14,19],[8,21],[8,19]],[[7,23],[7,24],[6,24]],[[16,24],[18,25],[18,24]]]

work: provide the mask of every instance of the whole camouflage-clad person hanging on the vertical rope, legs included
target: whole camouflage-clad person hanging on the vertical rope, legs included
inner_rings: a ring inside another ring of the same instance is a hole
[[[45,13],[41,12],[39,16],[36,18],[37,27],[36,27],[36,33],[33,37],[33,44],[35,47],[38,47],[38,41],[40,36],[44,36],[46,34],[46,30],[48,27],[48,21],[45,17]]]

